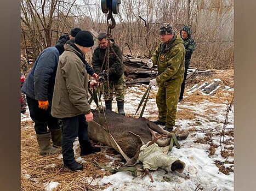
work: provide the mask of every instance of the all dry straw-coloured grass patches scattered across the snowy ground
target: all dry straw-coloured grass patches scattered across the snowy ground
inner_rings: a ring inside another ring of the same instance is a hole
[[[213,73],[208,76],[197,76],[191,77],[187,81],[187,87],[192,87],[195,83],[211,81],[213,79],[221,79],[223,83],[222,86],[234,87],[234,70],[227,71],[217,71],[214,70]],[[140,86],[142,92],[146,91],[146,86]],[[129,93],[133,93],[133,90],[130,89]],[[138,93],[134,91],[134,93]],[[212,103],[224,103],[226,101],[230,102],[234,96],[232,92],[227,92],[219,89],[214,96],[204,96],[201,91],[196,91],[192,94],[184,94],[184,102],[190,103],[191,105],[197,105],[205,100],[208,100]],[[156,95],[151,91],[150,98],[155,98]],[[197,114],[195,111],[189,108],[185,108],[182,105],[178,105],[179,111],[177,112],[177,119],[180,120],[194,120],[197,116],[203,116],[202,114]],[[211,107],[206,109],[206,114],[216,114],[216,111],[211,109]],[[149,111],[149,114],[152,116],[157,116],[158,112],[155,110]],[[207,117],[207,116],[203,116]],[[149,118],[149,117],[148,117]],[[155,119],[155,117],[152,117]],[[149,118],[149,120],[151,120]],[[200,123],[200,121],[198,121]],[[189,129],[190,137],[194,138],[195,133],[198,130],[195,127],[190,127]],[[234,137],[234,131],[229,130],[225,132],[225,135]],[[213,134],[206,132],[206,136],[203,139],[197,139],[195,142],[200,144],[209,144],[209,156],[212,156],[215,153],[217,145],[212,144]],[[220,135],[219,135],[220,136]],[[230,144],[231,142],[226,142]],[[82,171],[72,172],[64,168],[62,164],[62,159],[59,158],[58,154],[52,156],[39,156],[39,147],[36,141],[35,130],[33,129],[32,121],[21,122],[21,190],[44,190],[44,183],[49,183],[51,181],[60,183],[56,189],[53,190],[99,190],[108,187],[108,185],[103,186],[93,186],[90,184],[95,178],[102,178],[105,175],[110,175],[111,172],[101,170],[98,166],[95,166],[93,162],[96,160],[101,164],[107,164],[112,162],[112,159],[106,158],[105,153],[109,156],[116,156],[118,154],[115,150],[111,148],[106,148],[101,146],[102,152],[91,154],[83,159],[86,160],[84,169]],[[221,153],[225,157],[234,155],[234,148],[226,148],[226,151]],[[79,149],[77,150],[77,157],[79,154]],[[117,167],[120,165],[120,161],[116,161],[111,166]],[[231,172],[231,168],[224,168],[223,164],[216,162],[216,165],[219,167],[220,171],[224,174]],[[30,175],[30,178],[27,176]]]

